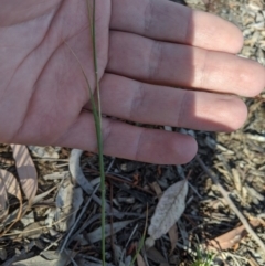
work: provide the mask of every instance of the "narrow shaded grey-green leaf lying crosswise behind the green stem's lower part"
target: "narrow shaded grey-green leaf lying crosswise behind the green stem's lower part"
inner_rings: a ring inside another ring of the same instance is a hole
[[[132,223],[135,220],[128,220],[123,222],[113,223],[113,233],[116,234],[120,230],[125,228],[128,224]],[[105,236],[108,237],[112,235],[110,224],[105,225]],[[87,234],[87,238],[91,244],[102,240],[102,227]]]

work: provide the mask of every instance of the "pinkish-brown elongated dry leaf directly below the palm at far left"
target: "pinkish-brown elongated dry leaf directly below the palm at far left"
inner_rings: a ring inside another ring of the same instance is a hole
[[[38,189],[38,175],[30,152],[23,145],[11,145],[20,183],[29,204],[32,204]]]

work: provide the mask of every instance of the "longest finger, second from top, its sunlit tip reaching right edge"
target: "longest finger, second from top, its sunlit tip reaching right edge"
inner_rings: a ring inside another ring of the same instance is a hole
[[[265,86],[258,63],[222,52],[112,32],[107,71],[146,83],[255,96]]]

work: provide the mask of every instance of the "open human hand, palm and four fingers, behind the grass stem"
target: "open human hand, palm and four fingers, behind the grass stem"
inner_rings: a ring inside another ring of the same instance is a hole
[[[0,141],[96,151],[89,94],[67,47],[95,91],[85,0],[0,7]],[[236,95],[265,86],[264,68],[235,55],[237,28],[167,0],[96,0],[96,43],[109,156],[186,163],[197,152],[192,137],[124,120],[232,131],[247,115]]]

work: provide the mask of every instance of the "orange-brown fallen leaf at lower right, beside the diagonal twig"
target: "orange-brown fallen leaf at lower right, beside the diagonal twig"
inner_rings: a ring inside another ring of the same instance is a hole
[[[251,220],[250,224],[253,227],[257,227],[261,222],[258,220]],[[227,249],[233,247],[236,243],[240,243],[241,240],[246,235],[246,230],[244,225],[241,225],[223,235],[215,237],[214,240],[210,241],[210,245],[208,246],[209,249],[213,249],[214,247],[218,249]]]

